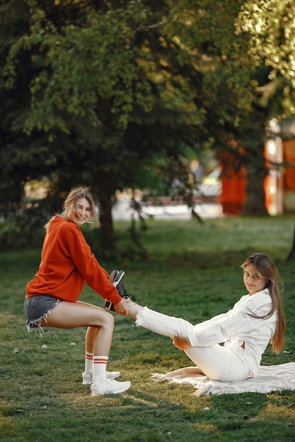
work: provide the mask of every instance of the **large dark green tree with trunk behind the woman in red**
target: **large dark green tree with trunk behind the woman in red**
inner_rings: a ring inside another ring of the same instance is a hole
[[[11,89],[1,92],[6,184],[89,184],[112,249],[112,196],[154,157],[211,146],[262,163],[265,113],[251,107],[255,64],[235,27],[243,1],[18,1],[22,26],[4,51]]]

